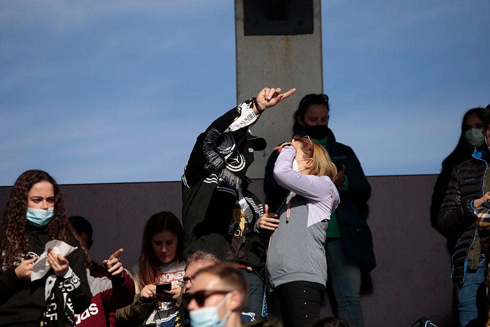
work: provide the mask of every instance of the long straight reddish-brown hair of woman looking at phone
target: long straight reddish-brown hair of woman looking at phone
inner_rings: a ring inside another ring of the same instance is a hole
[[[151,246],[153,235],[168,230],[177,236],[177,252],[175,259],[177,264],[182,261],[184,253],[184,229],[179,220],[170,211],[162,211],[152,215],[143,231],[140,255],[140,285],[143,287],[148,284],[156,284],[160,275],[160,260],[155,255]]]

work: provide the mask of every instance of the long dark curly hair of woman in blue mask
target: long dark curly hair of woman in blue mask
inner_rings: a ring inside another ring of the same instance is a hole
[[[14,184],[7,208],[3,213],[0,227],[0,253],[2,269],[10,269],[19,263],[22,255],[29,251],[25,242],[27,219],[28,193],[34,184],[47,181],[54,190],[54,218],[48,224],[48,233],[51,240],[57,239],[79,246],[78,237],[73,232],[70,221],[66,215],[65,202],[60,189],[53,177],[42,170],[28,170],[19,176]],[[82,248],[83,249],[83,248]],[[85,262],[88,262],[87,252],[84,250]]]

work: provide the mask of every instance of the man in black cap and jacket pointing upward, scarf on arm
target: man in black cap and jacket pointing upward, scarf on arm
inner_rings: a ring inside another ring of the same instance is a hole
[[[245,311],[256,316],[261,313],[267,251],[253,231],[262,204],[247,190],[251,179],[245,174],[253,151],[264,150],[266,143],[249,129],[266,109],[294,91],[264,88],[216,119],[197,137],[182,176],[184,256],[202,250],[236,263],[249,284]]]

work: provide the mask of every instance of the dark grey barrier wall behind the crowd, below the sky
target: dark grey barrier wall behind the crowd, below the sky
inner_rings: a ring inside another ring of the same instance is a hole
[[[422,316],[438,326],[452,326],[456,320],[450,255],[429,219],[436,178],[368,177],[372,186],[368,224],[377,267],[371,273],[373,292],[362,298],[367,327],[410,327]],[[10,190],[0,187],[0,203],[6,203]],[[121,247],[125,266],[135,264],[149,216],[168,210],[180,218],[180,182],[63,185],[61,190],[68,214],[92,222],[95,242],[90,254],[98,262]],[[265,198],[262,180],[252,183],[252,191]],[[3,213],[4,205],[0,207]],[[328,300],[322,312],[331,313]]]

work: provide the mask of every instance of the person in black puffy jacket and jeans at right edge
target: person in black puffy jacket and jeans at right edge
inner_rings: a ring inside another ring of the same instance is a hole
[[[453,261],[453,282],[458,287],[460,326],[484,326],[488,304],[485,292],[485,249],[475,225],[475,208],[490,199],[490,108],[483,115],[486,143],[473,158],[456,166],[441,205],[437,229],[458,239]]]

